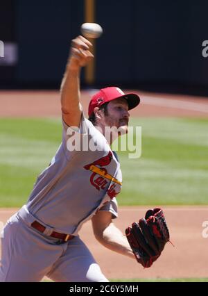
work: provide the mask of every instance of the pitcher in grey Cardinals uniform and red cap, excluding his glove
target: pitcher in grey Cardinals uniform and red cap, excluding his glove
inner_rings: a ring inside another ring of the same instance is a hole
[[[139,104],[139,97],[103,88],[92,97],[87,120],[80,104],[80,69],[92,60],[91,48],[82,36],[71,42],[60,90],[62,143],[37,177],[27,204],[3,229],[0,281],[41,281],[44,276],[53,281],[107,281],[78,235],[87,220],[92,220],[98,242],[135,258],[113,223],[122,178],[110,148],[115,137],[113,132],[105,136],[105,128],[126,133],[128,110]],[[77,139],[79,145],[73,145]]]

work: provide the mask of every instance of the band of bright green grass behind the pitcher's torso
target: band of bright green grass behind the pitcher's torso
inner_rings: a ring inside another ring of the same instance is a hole
[[[119,158],[120,205],[208,204],[208,120],[140,118],[141,158]],[[0,206],[24,204],[60,145],[58,119],[0,119]]]

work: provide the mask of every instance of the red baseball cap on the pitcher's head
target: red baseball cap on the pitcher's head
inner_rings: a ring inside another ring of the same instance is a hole
[[[128,102],[128,110],[135,108],[139,105],[140,99],[137,94],[125,94],[120,88],[111,86],[110,88],[101,88],[99,92],[96,92],[89,102],[88,115],[92,115],[95,107],[101,107],[107,101],[114,99],[124,98]]]

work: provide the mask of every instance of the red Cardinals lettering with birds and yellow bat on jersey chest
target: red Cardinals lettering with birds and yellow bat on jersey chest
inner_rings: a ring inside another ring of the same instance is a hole
[[[93,163],[89,163],[89,165],[85,165],[85,170],[92,171],[92,175],[90,176],[90,183],[97,189],[105,189],[109,181],[112,181],[113,184],[108,188],[107,194],[112,199],[115,197],[119,192],[116,192],[114,190],[115,183],[122,185],[119,180],[114,178],[111,174],[108,174],[107,170],[104,168],[105,166],[109,165],[112,161],[112,152],[109,151],[109,153],[106,156],[103,156],[99,158],[98,160],[94,161]]]

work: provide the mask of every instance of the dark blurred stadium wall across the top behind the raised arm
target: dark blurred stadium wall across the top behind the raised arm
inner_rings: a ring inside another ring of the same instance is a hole
[[[83,86],[208,94],[205,0],[0,4],[0,40],[8,47],[7,58],[1,58],[1,88],[59,88],[71,38],[83,22],[98,22],[104,33],[96,41],[94,77],[83,75]]]

